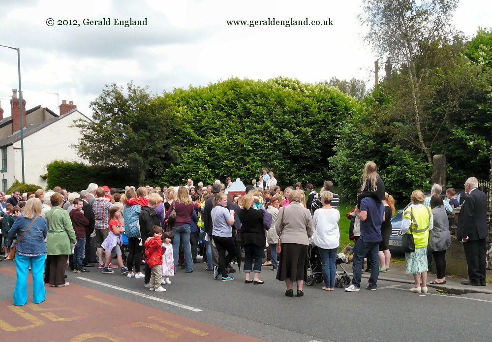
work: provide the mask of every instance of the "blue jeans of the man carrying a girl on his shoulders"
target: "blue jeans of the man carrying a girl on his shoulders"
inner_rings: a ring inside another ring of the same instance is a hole
[[[354,278],[352,284],[356,287],[361,287],[362,267],[364,258],[368,257],[370,262],[370,278],[369,285],[371,288],[377,287],[377,278],[379,277],[379,242],[364,242],[362,237],[355,244],[354,258],[352,259],[352,271]]]

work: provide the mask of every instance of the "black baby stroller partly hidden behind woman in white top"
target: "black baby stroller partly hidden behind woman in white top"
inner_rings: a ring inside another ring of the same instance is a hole
[[[350,277],[342,266],[342,264],[350,264],[349,259],[345,256],[345,254],[339,253],[335,264],[343,271],[337,271],[335,286],[343,287],[350,284]],[[314,283],[321,283],[323,281],[323,265],[321,263],[318,247],[313,244],[310,244],[307,249],[307,267],[306,285],[312,286]]]

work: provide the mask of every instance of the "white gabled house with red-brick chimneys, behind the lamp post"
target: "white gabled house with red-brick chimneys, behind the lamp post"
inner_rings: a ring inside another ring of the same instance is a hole
[[[15,179],[22,181],[21,134],[20,134],[20,103],[17,91],[13,91],[12,117],[1,118],[0,109],[0,139],[5,136],[9,125],[11,135],[0,140],[1,169],[0,180],[3,191],[8,189]],[[23,100],[23,108],[25,101]],[[46,180],[41,175],[47,173],[47,165],[54,160],[78,161],[88,163],[77,155],[72,145],[77,145],[81,138],[80,128],[72,127],[78,119],[91,121],[80,113],[70,101],[62,101],[60,115],[48,108],[34,107],[27,112],[23,110],[24,135],[24,178],[29,184],[46,187]],[[14,131],[15,128],[18,128]],[[3,133],[3,134],[2,134]]]

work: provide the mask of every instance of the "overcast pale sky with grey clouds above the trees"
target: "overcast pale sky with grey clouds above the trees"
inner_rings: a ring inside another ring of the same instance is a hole
[[[230,77],[266,80],[277,76],[322,82],[356,77],[372,87],[376,57],[363,41],[357,14],[362,0],[0,0],[0,45],[21,50],[26,108],[58,113],[74,101],[91,116],[90,102],[104,85],[133,81],[161,94]],[[54,26],[48,26],[48,19]],[[83,20],[110,18],[111,26]],[[147,26],[114,26],[114,19],[144,20]],[[228,26],[226,20],[332,20],[332,26]],[[472,36],[491,25],[490,0],[461,0],[455,27]],[[78,26],[58,26],[74,20]],[[384,61],[380,61],[384,72]],[[18,88],[17,54],[0,48],[0,106],[10,116]]]

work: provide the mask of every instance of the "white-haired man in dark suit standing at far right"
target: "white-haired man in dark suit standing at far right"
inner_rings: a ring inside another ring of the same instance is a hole
[[[487,196],[477,189],[478,181],[470,177],[464,184],[467,193],[458,218],[456,237],[463,242],[468,279],[461,281],[463,285],[486,286],[486,242],[487,228]]]

